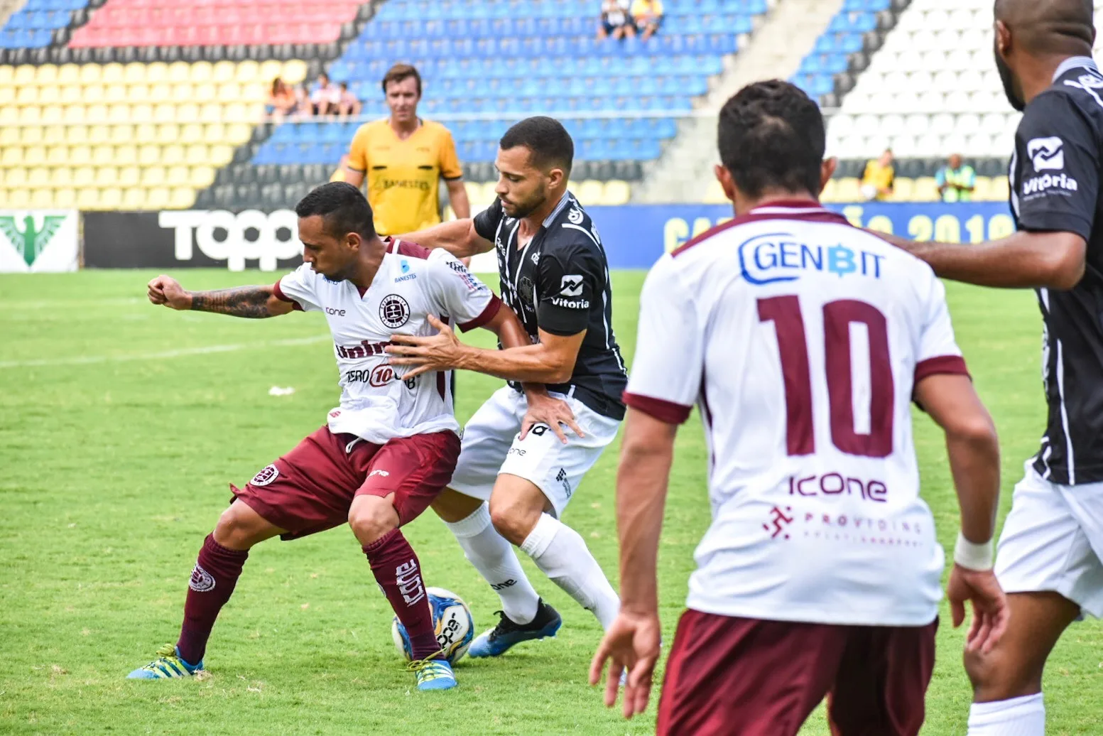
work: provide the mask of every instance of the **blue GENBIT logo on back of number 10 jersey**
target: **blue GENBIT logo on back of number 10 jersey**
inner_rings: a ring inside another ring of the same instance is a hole
[[[885,256],[833,243],[801,243],[792,233],[764,233],[739,244],[739,267],[748,284],[795,281],[804,273],[881,277]]]

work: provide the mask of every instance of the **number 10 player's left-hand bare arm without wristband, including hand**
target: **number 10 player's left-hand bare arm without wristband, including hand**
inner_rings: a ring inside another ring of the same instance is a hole
[[[617,471],[621,608],[590,664],[590,684],[596,685],[611,660],[604,698],[609,707],[617,702],[621,672],[628,670],[625,718],[647,708],[658,661],[656,562],[676,433],[676,425],[629,407]]]

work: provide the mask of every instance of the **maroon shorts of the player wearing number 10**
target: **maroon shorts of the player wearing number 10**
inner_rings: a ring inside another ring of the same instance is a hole
[[[914,736],[939,620],[920,627],[765,621],[687,610],[658,734],[795,736],[826,695],[835,736]]]

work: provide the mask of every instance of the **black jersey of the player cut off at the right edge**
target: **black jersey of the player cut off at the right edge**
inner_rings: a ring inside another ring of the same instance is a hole
[[[1030,100],[1015,134],[1011,212],[1019,230],[1071,232],[1088,242],[1084,277],[1038,289],[1043,321],[1046,434],[1035,469],[1062,486],[1103,481],[1103,75],[1067,60]]]

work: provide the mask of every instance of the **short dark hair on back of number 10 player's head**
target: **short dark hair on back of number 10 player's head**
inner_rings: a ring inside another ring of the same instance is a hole
[[[724,168],[748,196],[767,189],[820,193],[824,118],[799,87],[781,79],[747,85],[720,109],[717,139]]]

